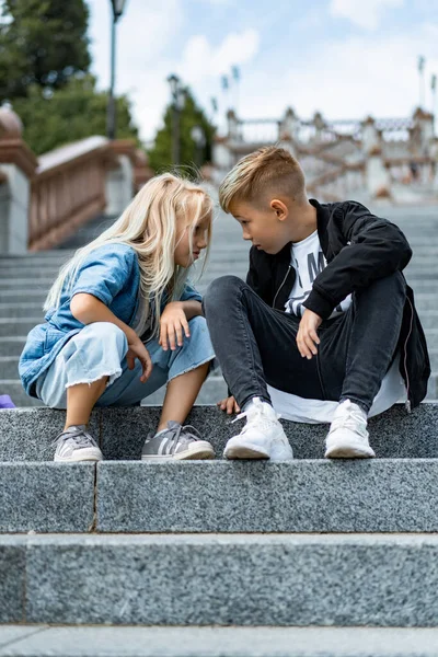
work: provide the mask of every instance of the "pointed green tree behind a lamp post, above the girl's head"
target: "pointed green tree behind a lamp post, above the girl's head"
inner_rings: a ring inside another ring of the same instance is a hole
[[[168,105],[164,112],[164,126],[158,130],[153,147],[149,151],[149,163],[157,172],[171,169],[172,163],[172,120],[173,106]],[[206,145],[198,151],[192,137],[192,129],[199,126],[204,130]],[[180,148],[183,166],[201,165],[211,161],[211,148],[216,127],[208,120],[205,112],[199,107],[189,91],[185,89],[184,106],[180,111]],[[199,158],[200,155],[200,158]]]

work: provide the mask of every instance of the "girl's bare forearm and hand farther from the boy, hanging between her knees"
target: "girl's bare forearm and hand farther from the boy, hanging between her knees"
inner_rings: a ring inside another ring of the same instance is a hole
[[[71,314],[82,324],[92,324],[94,322],[110,322],[115,324],[123,331],[128,341],[128,351],[126,354],[126,360],[128,361],[128,368],[134,369],[134,361],[136,358],[142,364],[141,381],[146,381],[152,371],[152,361],[149,356],[148,349],[137,335],[137,333],[130,328],[125,322],[122,322],[110,308],[102,301],[88,295],[85,292],[79,292],[74,295],[70,301]]]

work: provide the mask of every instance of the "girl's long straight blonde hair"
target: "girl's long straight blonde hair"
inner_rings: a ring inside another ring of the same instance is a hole
[[[153,334],[160,325],[163,295],[177,299],[186,283],[188,268],[176,266],[176,222],[189,218],[189,247],[196,224],[208,219],[207,252],[211,240],[212,201],[200,187],[171,173],[151,178],[138,192],[122,216],[99,238],[79,249],[65,264],[48,292],[44,310],[57,308],[61,292],[71,290],[76,276],[88,255],[106,244],[126,244],[134,249],[140,267],[140,299],[143,303],[138,326],[145,326],[152,297],[154,308]]]

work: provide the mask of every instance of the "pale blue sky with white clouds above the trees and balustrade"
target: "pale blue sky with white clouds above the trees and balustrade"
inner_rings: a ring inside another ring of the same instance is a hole
[[[88,3],[92,71],[106,89],[111,2]],[[288,106],[302,118],[405,117],[419,104],[422,55],[433,110],[436,0],[127,0],[117,39],[116,92],[128,94],[146,142],[161,126],[171,73],[219,127],[229,107],[241,118],[279,119]]]

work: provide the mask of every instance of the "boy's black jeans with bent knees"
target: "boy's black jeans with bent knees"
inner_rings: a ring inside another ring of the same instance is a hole
[[[204,298],[211,342],[238,404],[270,402],[266,383],[304,399],[351,400],[369,411],[393,358],[406,286],[397,272],[353,295],[348,311],[319,328],[318,356],[302,358],[300,320],[267,306],[243,280],[222,276]]]

